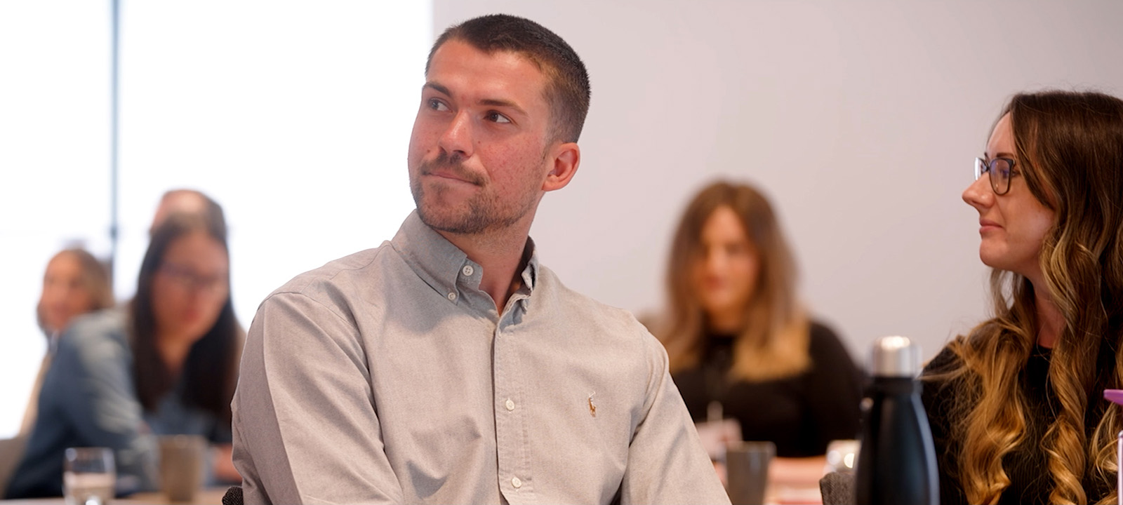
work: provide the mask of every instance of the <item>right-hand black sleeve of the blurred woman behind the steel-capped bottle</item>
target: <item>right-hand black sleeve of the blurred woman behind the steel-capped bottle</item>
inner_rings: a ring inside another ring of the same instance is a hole
[[[825,454],[832,440],[858,438],[862,374],[834,332],[822,324],[812,325],[810,352],[805,391],[816,438],[810,449]]]

